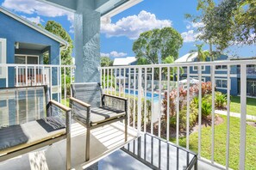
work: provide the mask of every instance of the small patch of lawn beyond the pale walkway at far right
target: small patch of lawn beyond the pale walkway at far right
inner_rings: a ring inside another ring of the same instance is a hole
[[[240,113],[240,96],[232,96],[230,111]],[[256,99],[247,98],[247,115],[256,116]]]

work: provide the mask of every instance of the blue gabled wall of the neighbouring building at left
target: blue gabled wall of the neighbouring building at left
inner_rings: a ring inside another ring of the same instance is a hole
[[[59,64],[59,42],[1,12],[0,27],[0,38],[7,39],[7,64],[15,63],[16,42],[49,46],[50,64]],[[14,86],[14,76],[14,69],[9,69],[9,87]],[[2,85],[4,82],[0,80]]]

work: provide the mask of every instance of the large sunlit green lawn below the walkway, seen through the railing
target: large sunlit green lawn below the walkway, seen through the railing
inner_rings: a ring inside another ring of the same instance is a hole
[[[227,117],[222,116],[224,122],[215,125],[215,161],[225,165],[226,162],[226,131]],[[190,149],[197,152],[198,133],[190,134]],[[201,155],[210,160],[211,155],[211,128],[202,129],[202,151]],[[172,139],[172,142],[175,139]],[[185,147],[186,139],[181,138],[179,144]],[[230,149],[229,149],[229,167],[238,169],[240,149],[240,118],[230,118]],[[247,125],[247,154],[246,169],[255,169],[256,167],[256,128]]]

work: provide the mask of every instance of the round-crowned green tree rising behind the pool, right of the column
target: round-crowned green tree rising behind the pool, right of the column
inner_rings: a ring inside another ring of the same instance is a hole
[[[180,33],[172,27],[164,27],[140,33],[139,39],[134,41],[133,51],[138,64],[161,64],[168,56],[177,59],[182,45]]]

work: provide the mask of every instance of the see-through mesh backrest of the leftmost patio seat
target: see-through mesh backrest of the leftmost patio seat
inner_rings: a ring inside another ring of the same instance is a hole
[[[47,86],[0,88],[0,128],[46,117]]]

